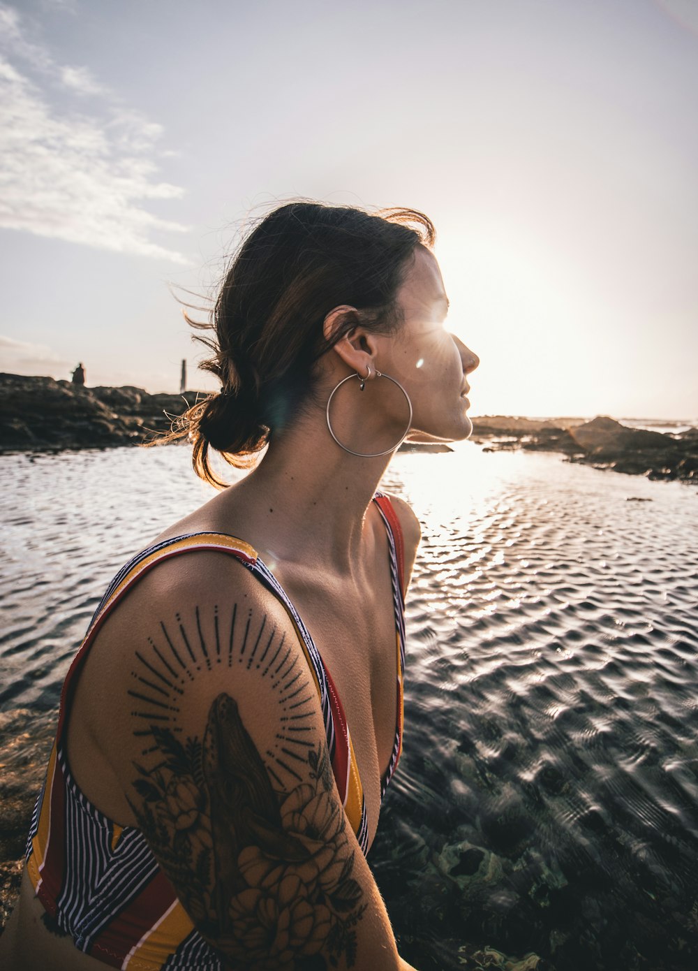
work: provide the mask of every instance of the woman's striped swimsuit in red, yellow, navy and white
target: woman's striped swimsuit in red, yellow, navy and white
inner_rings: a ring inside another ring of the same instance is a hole
[[[381,781],[383,795],[402,747],[404,556],[400,523],[389,499],[376,493],[374,502],[388,539],[396,640],[395,740]],[[342,702],[282,586],[248,544],[222,533],[193,533],[150,547],[116,575],[66,676],[47,780],[34,809],[26,851],[35,893],[75,946],[111,967],[129,971],[223,971],[224,965],[184,911],[141,830],[108,819],[77,786],[65,751],[66,713],[89,646],[116,603],[160,560],[192,550],[236,556],[283,604],[314,677],[332,770],[347,819],[364,854],[368,849],[366,803]]]

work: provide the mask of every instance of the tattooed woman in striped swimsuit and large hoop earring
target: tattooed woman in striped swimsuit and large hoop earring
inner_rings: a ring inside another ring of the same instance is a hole
[[[366,863],[402,738],[419,537],[376,493],[471,431],[434,229],[296,202],[216,302],[174,437],[249,475],[117,575],[69,673],[4,966],[408,968]],[[186,553],[186,555],[184,555]],[[349,731],[350,729],[350,731]]]

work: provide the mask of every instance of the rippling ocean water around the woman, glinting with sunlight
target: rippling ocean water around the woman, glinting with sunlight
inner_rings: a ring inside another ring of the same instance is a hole
[[[0,830],[25,825],[105,586],[211,494],[188,461],[0,459]],[[693,971],[698,490],[470,443],[400,454],[383,485],[423,530],[404,753],[369,857],[401,953]]]

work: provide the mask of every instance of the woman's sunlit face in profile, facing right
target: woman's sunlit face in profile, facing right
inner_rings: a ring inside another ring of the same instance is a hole
[[[480,358],[447,330],[449,300],[441,270],[424,247],[417,247],[397,299],[403,323],[389,346],[386,342],[379,367],[410,395],[414,430],[449,441],[465,439],[473,430],[466,375]]]

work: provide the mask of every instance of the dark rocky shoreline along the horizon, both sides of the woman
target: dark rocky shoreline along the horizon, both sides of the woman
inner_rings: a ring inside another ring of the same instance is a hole
[[[56,452],[142,445],[168,431],[203,391],[149,394],[140,387],[84,387],[0,374],[0,452]],[[568,461],[649,479],[698,482],[698,429],[664,434],[614,419],[473,419],[485,452],[559,452]],[[406,451],[448,451],[405,443]]]

